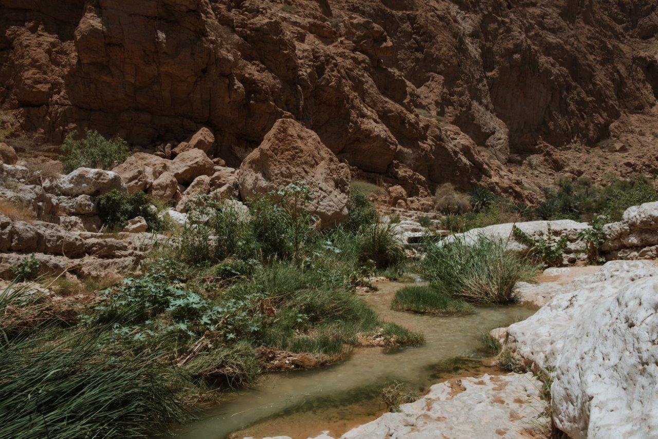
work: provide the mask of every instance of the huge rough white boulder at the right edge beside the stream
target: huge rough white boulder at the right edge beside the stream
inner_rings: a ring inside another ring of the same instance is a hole
[[[554,374],[555,424],[574,439],[653,437],[658,266],[611,261],[556,290],[536,314],[507,328],[505,343]]]

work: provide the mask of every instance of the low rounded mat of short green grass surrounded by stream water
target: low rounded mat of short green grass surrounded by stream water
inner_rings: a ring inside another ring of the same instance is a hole
[[[475,308],[459,299],[434,291],[432,287],[409,286],[399,289],[393,297],[393,309],[421,314],[473,314]]]

